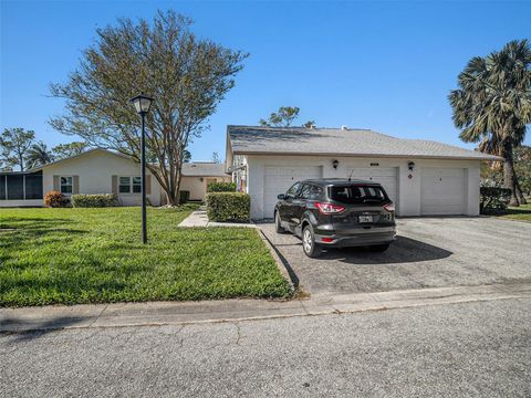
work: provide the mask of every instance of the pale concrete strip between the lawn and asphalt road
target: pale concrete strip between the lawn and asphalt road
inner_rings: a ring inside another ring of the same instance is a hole
[[[507,298],[531,298],[531,283],[326,294],[285,302],[222,300],[0,308],[0,333],[264,320]]]

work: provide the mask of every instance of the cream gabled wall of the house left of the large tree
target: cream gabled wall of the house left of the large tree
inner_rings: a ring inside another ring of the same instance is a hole
[[[150,175],[146,170],[146,175]],[[103,150],[95,150],[56,165],[44,167],[42,171],[43,193],[53,190],[53,176],[79,176],[80,193],[112,193],[112,176],[139,177],[140,165],[124,157]],[[149,203],[160,206],[160,186],[150,178],[152,191],[147,195]],[[124,206],[139,206],[140,193],[118,193]],[[42,201],[41,201],[42,203]]]

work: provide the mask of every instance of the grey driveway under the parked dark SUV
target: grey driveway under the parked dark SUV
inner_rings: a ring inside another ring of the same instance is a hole
[[[493,218],[398,220],[385,253],[360,248],[304,255],[301,241],[261,224],[300,286],[311,294],[531,282],[531,223]]]

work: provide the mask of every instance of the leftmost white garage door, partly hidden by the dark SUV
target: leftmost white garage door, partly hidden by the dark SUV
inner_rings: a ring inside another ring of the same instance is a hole
[[[263,217],[272,218],[277,196],[284,193],[296,181],[321,178],[322,168],[320,166],[299,166],[299,167],[266,167],[266,178],[263,181]]]

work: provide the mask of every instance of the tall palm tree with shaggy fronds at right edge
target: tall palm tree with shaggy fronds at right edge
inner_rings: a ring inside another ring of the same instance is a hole
[[[525,203],[514,172],[513,148],[522,145],[531,123],[531,49],[511,41],[499,52],[475,56],[451,91],[454,124],[467,143],[503,157],[503,185],[512,190],[511,206]]]

